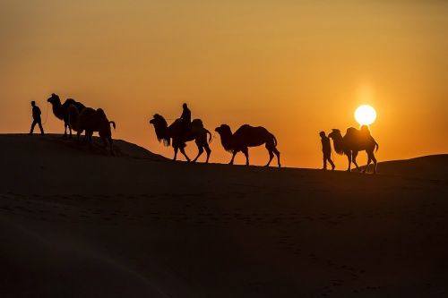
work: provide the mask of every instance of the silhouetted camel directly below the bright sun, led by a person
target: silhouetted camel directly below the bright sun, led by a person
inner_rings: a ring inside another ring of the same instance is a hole
[[[355,166],[357,166],[359,171],[359,166],[357,164],[358,151],[366,150],[368,160],[363,173],[366,173],[367,167],[372,161],[374,162],[374,174],[376,173],[376,158],[374,150],[376,148],[376,151],[378,151],[379,145],[370,135],[366,125],[363,125],[360,130],[357,130],[354,127],[349,127],[343,137],[340,130],[333,129],[328,137],[333,140],[334,150],[340,155],[345,154],[349,159],[349,168],[347,171],[351,170],[352,161]]]

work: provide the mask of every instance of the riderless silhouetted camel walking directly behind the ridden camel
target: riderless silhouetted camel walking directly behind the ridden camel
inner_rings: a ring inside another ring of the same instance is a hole
[[[277,139],[268,132],[263,126],[251,126],[248,124],[242,125],[237,129],[237,132],[232,134],[230,127],[227,124],[221,124],[215,129],[215,132],[220,134],[221,144],[224,149],[232,152],[232,159],[229,165],[233,165],[233,160],[239,151],[242,151],[246,156],[246,166],[249,166],[249,150],[248,147],[256,147],[265,144],[269,152],[269,161],[266,166],[271,164],[274,154],[277,156],[277,163],[280,167],[280,152],[276,148]]]

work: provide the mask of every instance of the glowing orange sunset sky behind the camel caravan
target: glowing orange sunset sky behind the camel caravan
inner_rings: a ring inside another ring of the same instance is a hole
[[[318,132],[358,126],[355,108],[370,104],[380,161],[447,153],[448,2],[337,3],[2,0],[0,132],[28,132],[30,100],[45,121],[55,92],[103,107],[115,138],[171,157],[148,121],[187,102],[211,131],[263,125],[284,166],[318,167]],[[64,129],[51,111],[45,128]],[[218,136],[211,149],[212,162],[230,159]],[[267,161],[263,147],[251,154]]]

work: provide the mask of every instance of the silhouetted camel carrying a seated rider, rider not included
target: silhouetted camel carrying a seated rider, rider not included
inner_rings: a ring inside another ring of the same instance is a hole
[[[186,156],[185,153],[185,142],[194,140],[196,143],[197,149],[199,150],[197,156],[193,159],[193,162],[202,155],[205,150],[207,154],[207,158],[205,163],[209,162],[211,149],[209,144],[211,143],[211,132],[209,132],[206,128],[203,127],[201,119],[194,119],[191,123],[191,128],[188,132],[184,132],[182,127],[182,120],[177,119],[174,123],[171,123],[168,126],[165,118],[159,114],[153,115],[150,123],[154,126],[154,130],[156,132],[157,140],[163,141],[165,146],[169,146],[172,141],[172,146],[174,149],[174,158],[177,159],[177,150],[180,149],[180,152],[184,155],[186,160],[189,162],[190,158]],[[207,134],[209,135],[209,140],[207,141]]]

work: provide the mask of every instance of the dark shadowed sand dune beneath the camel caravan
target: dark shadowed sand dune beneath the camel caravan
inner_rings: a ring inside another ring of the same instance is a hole
[[[447,156],[360,175],[116,146],[0,136],[1,297],[448,296]]]

